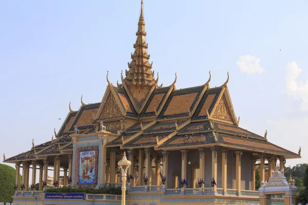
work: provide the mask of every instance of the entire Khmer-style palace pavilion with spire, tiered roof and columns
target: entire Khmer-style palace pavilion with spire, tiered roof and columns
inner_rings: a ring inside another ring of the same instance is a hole
[[[228,74],[223,85],[213,88],[210,73],[197,87],[177,89],[176,74],[170,86],[159,85],[146,34],[142,2],[134,52],[121,83],[111,84],[107,72],[101,102],[86,105],[81,98],[78,111],[69,106],[54,138],[36,146],[32,142],[29,151],[4,160],[16,165],[14,204],[41,193],[48,169],[57,187],[62,175],[63,186],[121,186],[118,161],[124,151],[132,163],[127,186],[131,205],[258,203],[256,166],[265,182],[278,159],[283,169],[286,159],[300,158],[300,152],[269,142],[267,132],[261,136],[239,127]],[[30,183],[35,185],[38,174],[40,191],[27,195],[30,168]],[[44,199],[35,203],[53,204]]]

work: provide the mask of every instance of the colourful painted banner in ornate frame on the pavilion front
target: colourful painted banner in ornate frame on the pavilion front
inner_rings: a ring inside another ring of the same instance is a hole
[[[79,183],[94,183],[95,151],[82,151],[79,157]]]

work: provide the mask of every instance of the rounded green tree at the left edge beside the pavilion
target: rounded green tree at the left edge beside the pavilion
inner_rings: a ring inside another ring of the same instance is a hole
[[[16,170],[8,165],[0,163],[0,201],[13,202],[12,196],[15,193]],[[22,177],[20,178],[22,181]],[[19,186],[19,185],[18,185]]]

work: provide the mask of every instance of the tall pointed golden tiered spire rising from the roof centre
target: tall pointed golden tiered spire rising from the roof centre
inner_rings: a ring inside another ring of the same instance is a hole
[[[154,79],[154,72],[151,70],[152,63],[149,63],[150,55],[147,54],[148,45],[145,40],[145,23],[143,16],[143,0],[136,33],[136,43],[133,45],[134,53],[131,53],[131,62],[128,63],[129,70],[125,72],[124,82],[132,95],[140,101],[153,85],[157,84]]]

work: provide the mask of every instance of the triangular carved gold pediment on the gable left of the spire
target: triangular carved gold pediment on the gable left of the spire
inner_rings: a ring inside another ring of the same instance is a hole
[[[119,116],[123,116],[122,111],[119,108],[117,101],[115,101],[113,94],[110,93],[99,119],[108,119]]]

